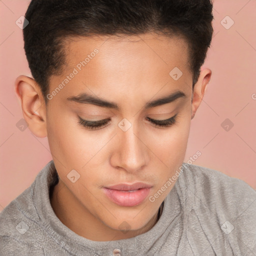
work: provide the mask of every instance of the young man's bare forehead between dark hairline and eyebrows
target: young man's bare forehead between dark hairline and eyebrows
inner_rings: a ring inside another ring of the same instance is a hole
[[[167,83],[168,87],[176,89],[187,87],[184,84],[192,82],[187,44],[177,36],[147,33],[70,37],[64,50],[66,63],[63,73],[50,79],[52,91],[76,70],[61,92],[63,99],[81,92],[107,97],[129,93],[130,98],[138,99],[148,91],[156,93]],[[178,80],[170,76],[175,68],[182,72]],[[144,95],[145,98],[148,96]]]

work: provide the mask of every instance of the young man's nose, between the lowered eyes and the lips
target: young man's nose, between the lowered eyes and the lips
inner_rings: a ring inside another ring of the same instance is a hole
[[[118,128],[116,144],[110,158],[111,165],[127,172],[139,171],[147,164],[148,159],[148,150],[143,138],[142,132],[133,125],[126,131]]]

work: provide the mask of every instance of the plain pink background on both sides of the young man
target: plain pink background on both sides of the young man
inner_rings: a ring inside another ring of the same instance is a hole
[[[23,50],[22,30],[15,21],[29,1],[0,1],[0,211],[33,182],[51,160],[47,137],[37,138],[16,123],[23,118],[14,93],[19,74],[30,75]],[[244,180],[256,189],[256,1],[215,0],[214,37],[203,67],[212,70],[194,119],[186,162],[201,151],[193,164],[216,169]],[[223,25],[234,24],[226,29]],[[223,20],[221,22],[221,20]],[[221,24],[226,23],[226,24]],[[253,94],[254,93],[254,94]],[[254,99],[253,99],[254,98]],[[221,123],[234,126],[226,131]]]

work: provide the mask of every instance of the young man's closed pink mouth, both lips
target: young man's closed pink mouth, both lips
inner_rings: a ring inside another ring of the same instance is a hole
[[[103,187],[103,192],[108,199],[120,206],[136,206],[144,201],[151,187],[152,185],[142,182],[121,183]]]

